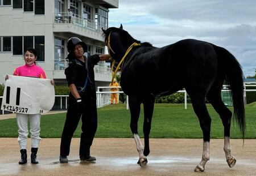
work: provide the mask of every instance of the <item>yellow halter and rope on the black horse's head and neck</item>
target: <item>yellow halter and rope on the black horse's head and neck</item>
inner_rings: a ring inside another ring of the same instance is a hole
[[[109,51],[109,49],[110,49],[110,50],[115,54],[115,52],[113,51],[113,49],[112,49],[111,46],[110,46],[110,35],[111,35],[111,33],[112,33],[112,32],[109,33],[109,37],[108,37],[108,51]],[[140,45],[141,45],[141,44],[138,44],[137,42],[134,42],[133,44],[131,44],[131,45],[129,46],[129,48],[128,48],[128,49],[126,50],[126,52],[125,52],[125,55],[123,55],[121,61],[120,61],[120,62],[118,63],[118,65],[117,65],[117,68],[115,68],[115,71],[114,71],[114,73],[112,74],[111,83],[113,83],[113,80],[114,80],[114,78],[115,78],[115,74],[117,73],[117,70],[118,70],[118,68],[120,67],[121,63],[125,60],[126,55],[130,53],[131,49],[133,49],[134,46],[140,46]],[[110,52],[109,52],[109,53],[110,53]],[[114,59],[113,59],[113,60],[114,60]],[[115,64],[115,60],[114,60],[113,63],[112,63],[112,67],[111,67],[112,70],[113,70],[113,68],[114,68],[114,64]],[[122,70],[121,70],[121,72],[122,72]]]

